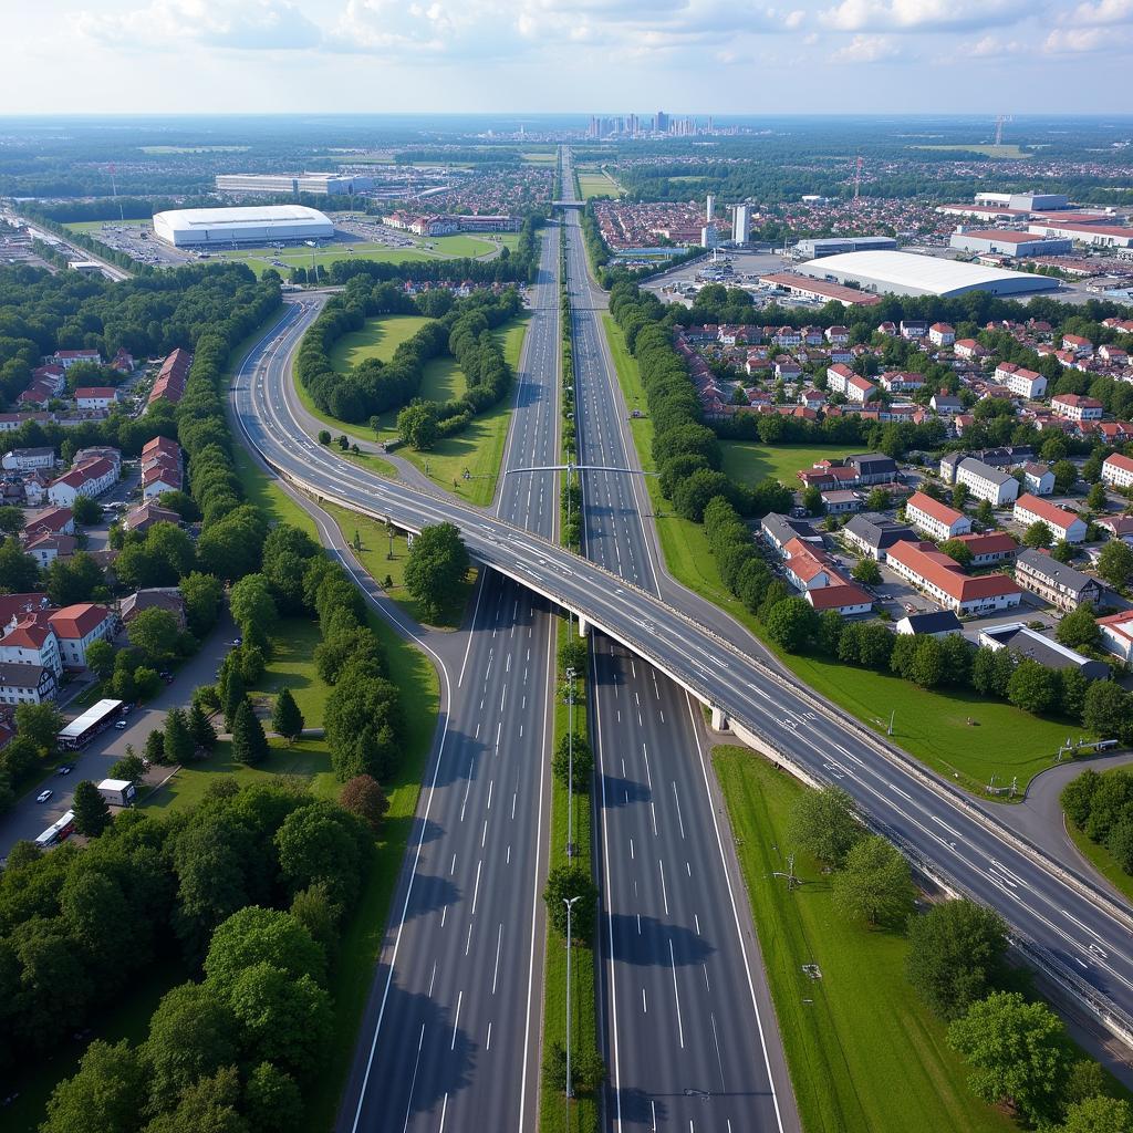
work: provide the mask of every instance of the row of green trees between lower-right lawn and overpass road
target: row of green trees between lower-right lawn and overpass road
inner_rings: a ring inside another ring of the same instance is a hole
[[[1007,1106],[1045,1133],[1124,1133],[1133,1108],[1114,1097],[1101,1066],[1081,1057],[1050,1008],[1007,990],[1007,926],[971,901],[912,911],[909,866],[888,842],[870,835],[853,799],[838,787],[804,791],[789,817],[792,844],[834,870],[842,915],[904,928],[906,974],[930,1011],[948,1024],[947,1041],[969,1065],[969,1087]]]

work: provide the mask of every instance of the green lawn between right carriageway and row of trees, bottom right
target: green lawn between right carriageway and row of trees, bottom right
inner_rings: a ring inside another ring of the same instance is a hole
[[[904,976],[903,936],[837,915],[804,854],[789,893],[786,818],[806,790],[747,748],[713,749],[751,901],[791,1081],[807,1133],[1008,1133],[1017,1126],[972,1097],[945,1028]],[[820,979],[803,973],[818,964]]]

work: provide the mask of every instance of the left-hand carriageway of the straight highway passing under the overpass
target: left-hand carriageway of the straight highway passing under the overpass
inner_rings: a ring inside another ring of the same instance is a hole
[[[531,292],[506,467],[555,459],[555,235]],[[496,511],[551,538],[555,495],[552,478],[501,477]],[[536,1125],[553,625],[544,598],[483,572],[341,1131]]]

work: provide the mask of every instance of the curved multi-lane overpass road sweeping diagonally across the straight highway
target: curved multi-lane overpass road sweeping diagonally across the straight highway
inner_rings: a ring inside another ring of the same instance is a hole
[[[1083,892],[1055,863],[982,819],[951,785],[770,671],[750,639],[747,649],[738,648],[704,619],[553,542],[492,512],[382,479],[316,444],[289,397],[289,359],[305,317],[309,313],[297,313],[281,335],[269,335],[263,364],[236,390],[250,443],[276,470],[313,494],[391,518],[409,530],[457,523],[482,563],[599,625],[812,780],[845,787],[919,864],[998,909],[1016,935],[1042,948],[1066,978],[1076,973],[1083,989],[1097,989],[1116,1008],[1133,1011],[1133,946],[1121,909]],[[729,637],[742,641],[744,631],[736,627]]]

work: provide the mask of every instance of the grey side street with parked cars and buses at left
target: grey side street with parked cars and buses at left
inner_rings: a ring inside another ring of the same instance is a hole
[[[126,717],[128,727],[123,731],[108,729],[95,736],[83,751],[75,752],[69,760],[66,760],[75,767],[70,775],[63,776],[52,772],[41,783],[28,787],[26,794],[16,801],[11,810],[0,816],[0,858],[7,857],[18,841],[35,838],[70,810],[76,783],[82,780],[91,780],[94,783],[104,780],[111,764],[126,755],[127,743],[133,743],[134,750],[142,755],[146,736],[162,725],[165,713],[179,705],[187,706],[194,689],[215,681],[216,670],[231,649],[230,642],[235,636],[236,627],[225,606],[216,629],[205,639],[201,649],[177,670],[173,683],[162,685],[153,700],[135,708]],[[68,715],[74,717],[79,715],[79,712],[73,706]],[[35,796],[45,787],[50,787],[54,794],[48,802],[37,803]]]

